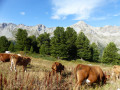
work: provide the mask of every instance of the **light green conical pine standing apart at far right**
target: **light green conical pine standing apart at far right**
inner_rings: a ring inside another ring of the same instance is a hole
[[[116,64],[118,58],[118,49],[113,42],[110,42],[103,51],[102,62]]]

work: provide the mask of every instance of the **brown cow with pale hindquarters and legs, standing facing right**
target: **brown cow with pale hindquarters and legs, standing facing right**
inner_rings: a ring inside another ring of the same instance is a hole
[[[11,61],[11,67],[10,67],[11,70],[13,65],[15,71],[16,71],[16,65],[21,65],[23,66],[23,70],[26,72],[26,67],[31,62],[31,59],[29,57],[11,55],[10,61]]]

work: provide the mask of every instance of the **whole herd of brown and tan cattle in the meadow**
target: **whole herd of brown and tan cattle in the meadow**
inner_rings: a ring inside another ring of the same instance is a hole
[[[2,62],[11,62],[10,69],[14,66],[14,70],[16,71],[16,65],[22,65],[23,70],[26,71],[26,67],[30,64],[31,59],[29,57],[21,56],[20,54],[11,54],[11,53],[0,53],[0,61]],[[64,71],[64,65],[59,62],[55,62],[52,65],[51,73],[54,75],[56,73],[62,74]],[[112,68],[112,75],[115,75],[117,79],[120,78],[120,66],[114,65]],[[88,85],[92,85],[93,83],[97,84],[105,84],[107,79],[109,79],[110,75],[106,75],[105,72],[99,66],[92,65],[83,65],[78,64],[74,69],[74,74],[76,78],[76,87],[80,86],[84,83]]]

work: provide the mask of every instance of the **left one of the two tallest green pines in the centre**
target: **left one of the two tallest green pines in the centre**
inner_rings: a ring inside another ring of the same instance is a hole
[[[57,27],[54,31],[54,36],[51,38],[51,55],[56,58],[67,57],[66,38],[63,27]]]

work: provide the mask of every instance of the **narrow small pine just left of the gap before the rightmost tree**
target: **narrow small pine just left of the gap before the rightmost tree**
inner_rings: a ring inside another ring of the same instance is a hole
[[[99,61],[99,49],[95,43],[91,44],[91,61],[98,62]]]

